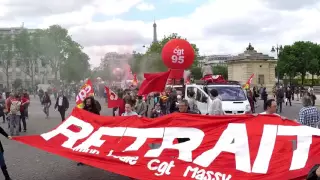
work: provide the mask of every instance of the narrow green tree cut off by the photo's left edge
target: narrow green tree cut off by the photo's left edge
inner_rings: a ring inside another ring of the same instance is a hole
[[[13,39],[11,35],[0,36],[0,66],[6,76],[7,88],[9,88],[9,68],[13,59]]]

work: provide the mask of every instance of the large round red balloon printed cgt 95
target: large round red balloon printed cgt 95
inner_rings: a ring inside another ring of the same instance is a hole
[[[194,61],[194,49],[184,39],[172,39],[162,49],[162,61],[170,69],[188,69]]]

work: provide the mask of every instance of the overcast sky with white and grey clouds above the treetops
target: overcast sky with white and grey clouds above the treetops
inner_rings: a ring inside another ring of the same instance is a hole
[[[91,64],[107,52],[143,51],[178,33],[202,55],[237,54],[249,42],[270,53],[272,45],[320,42],[318,0],[0,0],[0,27],[46,28],[59,24],[85,47]]]

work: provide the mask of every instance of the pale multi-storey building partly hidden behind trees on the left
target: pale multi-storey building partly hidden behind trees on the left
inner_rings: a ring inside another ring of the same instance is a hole
[[[0,28],[0,35],[11,35],[12,38],[15,37],[18,33],[21,32],[23,29],[22,27],[11,27],[11,28]],[[29,32],[34,32],[35,29],[27,29]],[[1,45],[1,41],[0,41]],[[14,47],[13,47],[14,48]],[[14,49],[13,49],[14,51]],[[4,52],[0,51],[0,61],[2,61],[2,54]],[[7,87],[7,75],[5,73],[5,69],[0,64],[0,89],[3,88],[12,88],[12,84],[16,79],[21,79],[23,86],[28,87],[31,86],[31,77],[24,72],[24,68],[22,67],[22,63],[19,63],[19,60],[17,58],[12,59],[11,66],[9,67],[9,86]],[[37,61],[37,64],[34,71],[34,83],[40,83],[40,84],[50,84],[54,80],[54,73],[52,72],[52,69],[49,65],[42,66],[42,63],[40,60]],[[58,72],[58,79],[60,79],[60,73]]]

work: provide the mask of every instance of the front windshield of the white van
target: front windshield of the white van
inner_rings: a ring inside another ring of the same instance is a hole
[[[245,101],[247,100],[246,95],[241,87],[235,86],[208,86],[208,92],[211,89],[216,89],[221,96],[222,101]]]

